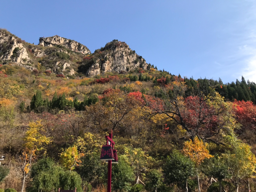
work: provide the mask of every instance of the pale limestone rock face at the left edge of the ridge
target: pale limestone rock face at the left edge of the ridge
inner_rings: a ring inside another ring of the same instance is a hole
[[[15,63],[29,63],[30,58],[22,41],[5,30],[0,30],[0,60]]]

